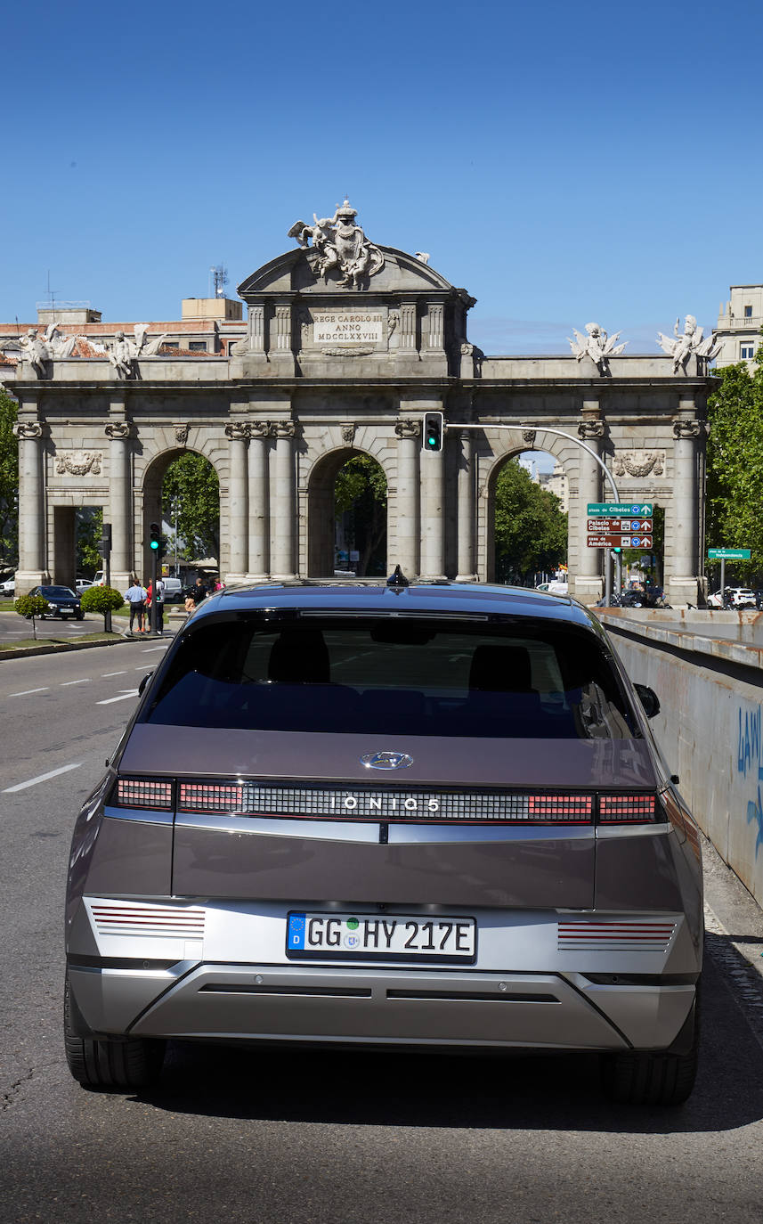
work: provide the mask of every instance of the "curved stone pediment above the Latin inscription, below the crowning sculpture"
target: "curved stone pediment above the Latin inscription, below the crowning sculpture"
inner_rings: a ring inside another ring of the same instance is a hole
[[[455,289],[445,277],[416,256],[397,251],[391,246],[379,246],[378,250],[384,255],[384,266],[375,273],[367,288],[353,289],[350,285],[341,285],[334,272],[324,278],[318,269],[317,253],[313,247],[298,247],[296,251],[279,255],[253,272],[238,285],[238,294],[246,302],[252,304],[270,295],[292,293],[311,296],[340,296],[358,302],[367,295],[378,297],[380,294],[430,295],[435,293],[438,296],[457,295],[465,301],[465,305],[472,305],[473,300],[463,289]]]

